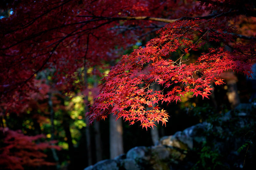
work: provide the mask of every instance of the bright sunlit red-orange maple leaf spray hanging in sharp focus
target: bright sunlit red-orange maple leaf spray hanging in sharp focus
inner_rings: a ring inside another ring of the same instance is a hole
[[[165,124],[169,117],[156,104],[177,103],[189,93],[209,98],[212,83],[224,83],[220,77],[224,71],[250,76],[256,54],[255,38],[250,42],[237,41],[232,25],[223,22],[232,17],[222,15],[224,12],[210,19],[185,19],[167,24],[144,47],[124,55],[102,79],[104,86],[87,113],[90,122],[113,113],[116,119],[123,117],[130,124],[138,121],[143,128],[153,128],[155,122]],[[224,45],[202,50],[213,42],[223,42],[232,51]],[[201,54],[194,62],[182,60],[185,54],[197,50]],[[176,61],[172,59],[175,52],[180,54]],[[160,85],[162,90],[154,91],[152,83]]]

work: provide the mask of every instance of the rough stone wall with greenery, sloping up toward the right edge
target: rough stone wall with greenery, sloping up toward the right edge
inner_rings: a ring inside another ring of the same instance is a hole
[[[250,136],[247,139],[246,136],[239,138],[236,136],[236,131],[241,131],[243,134],[249,129],[248,133],[254,136],[254,130],[251,129],[256,127],[255,108],[254,103],[240,104],[236,110],[214,120],[217,124],[214,122],[196,124],[174,135],[162,137],[155,146],[132,148],[126,154],[114,159],[102,160],[84,170],[168,170],[198,169],[198,167],[204,169],[208,166],[207,160],[212,166],[209,167],[210,169],[242,169],[245,161],[244,153],[239,155],[237,149],[248,139],[253,141],[254,138]],[[250,148],[251,153],[246,151],[247,157],[253,158],[255,153],[253,146]]]

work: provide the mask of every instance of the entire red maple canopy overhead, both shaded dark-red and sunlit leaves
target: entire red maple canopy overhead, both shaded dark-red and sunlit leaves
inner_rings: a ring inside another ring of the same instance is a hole
[[[5,9],[14,14],[0,20],[6,40],[0,42],[3,110],[19,112],[27,94],[38,90],[34,78],[44,68],[55,70],[56,86],[83,89],[83,81],[74,83],[82,77],[81,68],[115,61],[135,40],[162,27],[159,36],[123,56],[103,79],[88,116],[92,122],[113,112],[146,128],[156,121],[164,124],[168,114],[154,104],[177,102],[188,92],[208,98],[212,81],[222,84],[218,76],[229,69],[250,74],[253,6],[253,1],[238,0],[10,1]],[[211,43],[215,46],[209,48]],[[184,61],[185,55],[190,60]],[[164,91],[153,91],[152,82]]]

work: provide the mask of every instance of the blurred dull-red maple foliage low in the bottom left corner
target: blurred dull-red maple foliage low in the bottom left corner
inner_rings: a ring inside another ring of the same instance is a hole
[[[47,148],[60,149],[52,145],[52,142],[35,143],[36,140],[44,138],[44,135],[26,136],[20,131],[13,131],[8,128],[0,129],[1,149],[0,166],[3,169],[24,169],[24,166],[51,166],[52,162],[44,160],[47,157],[43,151]]]

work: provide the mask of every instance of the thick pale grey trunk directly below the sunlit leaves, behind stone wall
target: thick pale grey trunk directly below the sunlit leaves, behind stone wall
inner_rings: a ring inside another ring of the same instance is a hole
[[[122,120],[109,115],[110,159],[124,153]]]

